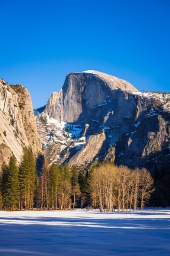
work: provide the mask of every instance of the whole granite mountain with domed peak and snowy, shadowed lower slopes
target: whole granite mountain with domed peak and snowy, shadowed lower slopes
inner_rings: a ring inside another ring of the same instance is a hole
[[[70,165],[99,158],[131,168],[168,168],[169,102],[169,94],[138,92],[104,73],[69,73],[41,114],[47,124],[36,117],[42,148],[51,160]]]

